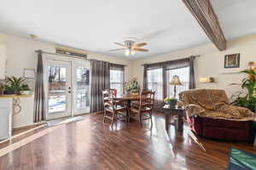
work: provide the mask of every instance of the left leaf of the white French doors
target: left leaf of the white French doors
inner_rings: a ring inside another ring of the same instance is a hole
[[[71,64],[48,60],[47,81],[47,119],[71,116]]]

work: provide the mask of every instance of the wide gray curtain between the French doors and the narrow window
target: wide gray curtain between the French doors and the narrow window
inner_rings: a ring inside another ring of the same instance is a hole
[[[102,90],[110,87],[109,63],[106,61],[90,60],[90,112],[103,111]]]

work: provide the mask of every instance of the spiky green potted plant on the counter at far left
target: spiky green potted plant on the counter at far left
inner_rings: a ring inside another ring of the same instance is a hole
[[[4,94],[20,94],[26,79],[23,77],[6,77],[6,86]]]

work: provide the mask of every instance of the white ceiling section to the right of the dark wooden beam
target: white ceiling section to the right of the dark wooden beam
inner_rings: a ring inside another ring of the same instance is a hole
[[[211,0],[226,39],[256,33],[255,0]]]

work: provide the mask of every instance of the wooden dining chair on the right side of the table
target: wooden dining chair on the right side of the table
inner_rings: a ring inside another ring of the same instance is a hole
[[[155,92],[151,90],[143,90],[140,93],[140,100],[133,102],[131,105],[131,116],[139,116],[139,122],[141,127],[143,127],[143,121],[150,119],[151,125],[152,121],[152,112],[154,109],[154,94]]]

